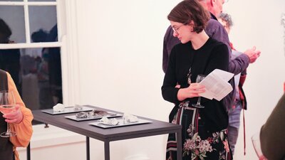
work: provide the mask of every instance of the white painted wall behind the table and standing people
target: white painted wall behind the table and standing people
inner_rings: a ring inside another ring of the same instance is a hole
[[[77,95],[81,96],[78,103],[167,121],[172,104],[162,100],[160,92],[164,76],[162,40],[169,25],[166,16],[178,2],[76,1],[80,75]],[[264,124],[283,92],[285,50],[280,22],[285,1],[231,0],[224,10],[234,20],[230,35],[234,46],[238,50],[257,46],[262,51],[257,63],[249,66],[244,84],[249,107],[245,115],[247,155],[243,156],[241,127],[234,157],[257,159],[250,137]],[[142,155],[142,159],[162,160],[166,139],[165,135],[111,142],[110,157],[121,160]],[[61,154],[73,149],[67,146],[51,149]],[[71,157],[68,159],[77,159]],[[91,159],[103,159],[102,142],[91,141]]]

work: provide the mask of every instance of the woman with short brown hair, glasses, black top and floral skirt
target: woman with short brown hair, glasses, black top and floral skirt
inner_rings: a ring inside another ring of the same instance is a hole
[[[195,83],[197,75],[208,75],[214,69],[228,70],[228,48],[207,36],[204,28],[209,12],[196,0],[180,2],[167,18],[173,36],[181,43],[171,50],[162,97],[175,104],[169,120],[182,125],[183,160],[232,159],[227,140],[229,118],[222,101],[202,97],[203,109],[191,105],[197,102],[199,93],[204,92],[204,86]],[[176,150],[175,134],[169,134],[166,159],[175,160]]]

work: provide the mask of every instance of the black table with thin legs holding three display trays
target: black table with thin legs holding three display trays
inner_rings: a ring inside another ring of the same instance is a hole
[[[113,110],[107,110],[101,107],[94,107],[85,105],[86,107],[93,107],[97,110],[104,110],[108,112],[116,112]],[[121,112],[116,112],[120,113]],[[41,110],[33,110],[33,119],[46,124],[51,124],[62,129],[66,129],[71,132],[76,132],[86,136],[86,159],[90,160],[90,147],[89,137],[98,139],[104,142],[105,160],[110,160],[110,142],[118,141],[123,139],[133,139],[138,137],[149,137],[160,134],[177,134],[177,159],[182,160],[182,137],[181,129],[182,126],[178,124],[171,124],[167,122],[158,121],[155,119],[149,119],[145,117],[139,117],[141,119],[147,119],[152,121],[148,124],[138,124],[126,127],[114,127],[111,129],[103,129],[100,127],[92,126],[88,123],[95,122],[95,120],[76,122],[71,119],[67,119],[65,116],[72,114],[47,114],[41,112]],[[32,144],[31,144],[32,145]],[[30,160],[30,147],[27,148],[28,160]]]

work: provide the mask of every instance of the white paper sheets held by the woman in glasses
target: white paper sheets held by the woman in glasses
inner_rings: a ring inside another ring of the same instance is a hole
[[[212,73],[209,73],[209,75],[200,82],[201,85],[205,86],[206,91],[199,95],[209,100],[212,100],[213,98],[222,100],[223,97],[232,91],[232,85],[230,85],[228,81],[233,76],[234,74],[224,70],[213,70]]]

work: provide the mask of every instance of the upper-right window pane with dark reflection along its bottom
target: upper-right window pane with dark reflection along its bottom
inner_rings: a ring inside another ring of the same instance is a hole
[[[31,42],[58,41],[56,6],[29,6]],[[46,34],[49,34],[46,37]]]

